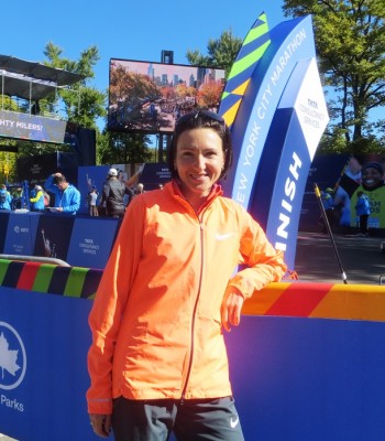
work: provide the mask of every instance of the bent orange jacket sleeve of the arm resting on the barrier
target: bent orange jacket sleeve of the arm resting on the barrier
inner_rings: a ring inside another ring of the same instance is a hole
[[[287,267],[283,252],[274,249],[263,228],[243,207],[240,222],[240,263],[246,268],[235,273],[227,291],[235,290],[248,299],[267,283],[279,281]]]

